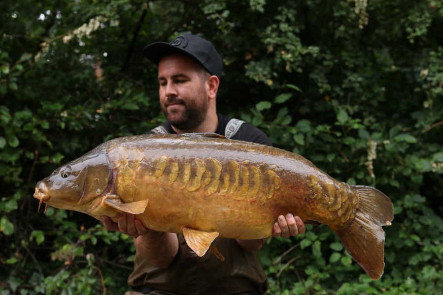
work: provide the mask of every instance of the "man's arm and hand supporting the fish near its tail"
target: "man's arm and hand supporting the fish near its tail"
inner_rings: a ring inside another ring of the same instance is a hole
[[[277,221],[273,225],[273,237],[297,236],[298,234],[305,234],[305,232],[306,226],[303,220],[298,216],[294,217],[291,213],[286,214],[286,216],[278,216]],[[247,251],[256,251],[263,247],[268,238],[256,240],[237,239],[237,242]]]

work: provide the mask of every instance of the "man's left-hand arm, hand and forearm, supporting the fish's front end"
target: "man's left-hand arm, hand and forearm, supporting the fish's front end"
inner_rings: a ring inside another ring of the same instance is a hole
[[[178,253],[178,237],[174,233],[162,233],[147,229],[134,214],[120,213],[117,223],[102,216],[103,226],[109,231],[119,231],[134,237],[137,251],[154,266],[168,267]]]

